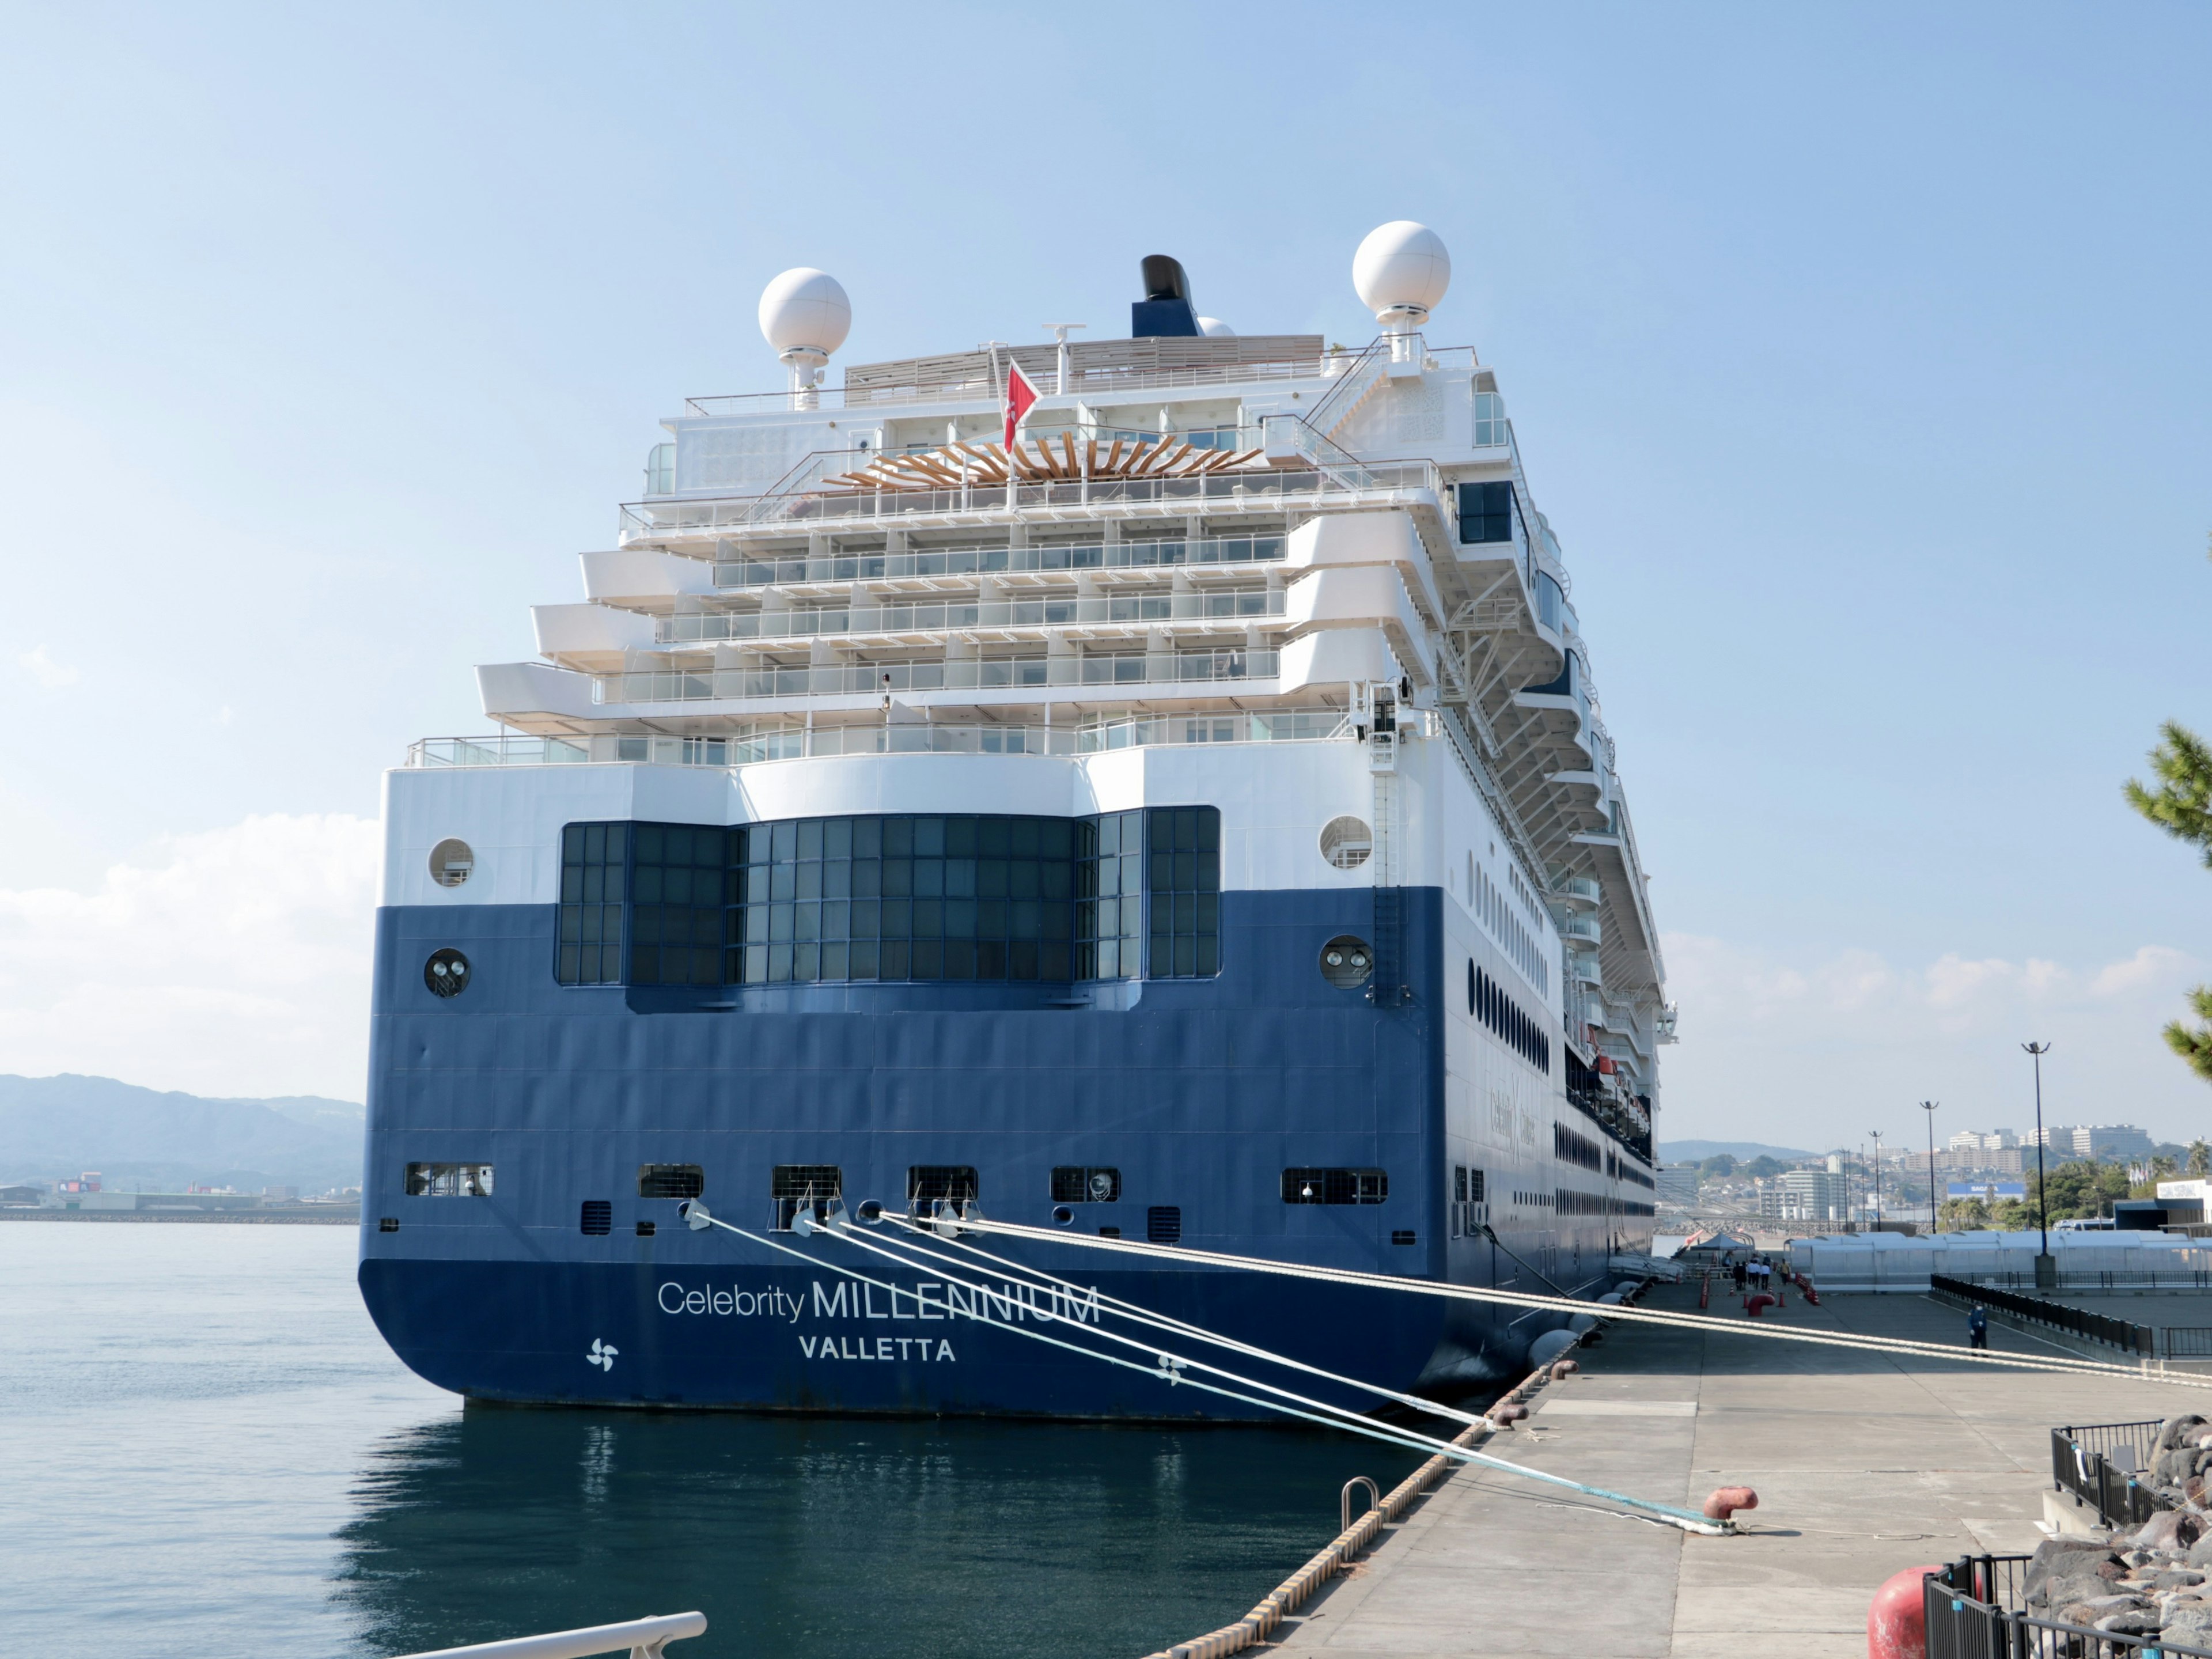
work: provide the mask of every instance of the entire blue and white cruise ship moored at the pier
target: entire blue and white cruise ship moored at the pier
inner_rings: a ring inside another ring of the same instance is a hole
[[[779,276],[783,389],[661,420],[476,670],[500,730],[387,774],[358,1283],[420,1376],[1263,1411],[1104,1363],[1108,1296],[1449,1396],[1566,1316],[1217,1256],[1595,1298],[1648,1250],[1674,1011],[1442,239],[1358,246],[1363,347],[1135,263],[1128,338],[834,387],[847,294]],[[1044,1234],[962,1283],[863,1206]]]

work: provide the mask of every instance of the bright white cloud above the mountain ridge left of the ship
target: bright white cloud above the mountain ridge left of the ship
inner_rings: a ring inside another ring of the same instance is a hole
[[[0,1068],[361,1099],[376,849],[369,818],[254,816],[95,891],[0,889]]]

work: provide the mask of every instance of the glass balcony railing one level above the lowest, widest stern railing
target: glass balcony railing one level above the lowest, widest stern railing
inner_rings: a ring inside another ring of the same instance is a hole
[[[872,697],[1024,686],[1164,686],[1274,679],[1274,650],[1181,650],[1128,657],[975,657],[964,661],[697,668],[597,675],[595,703],[695,703],[743,697]]]

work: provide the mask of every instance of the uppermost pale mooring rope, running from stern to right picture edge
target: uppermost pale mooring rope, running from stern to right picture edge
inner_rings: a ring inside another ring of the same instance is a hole
[[[1858,1336],[1851,1332],[1809,1332],[1792,1325],[1754,1325],[1708,1318],[1699,1314],[1670,1314],[1657,1307],[1621,1307],[1613,1303],[1586,1303],[1575,1296],[1537,1296],[1522,1290],[1489,1290],[1480,1285],[1451,1285],[1438,1279],[1402,1279],[1398,1274],[1369,1274],[1352,1267],[1307,1267],[1301,1263],[1270,1261],[1267,1256],[1237,1256],[1221,1250],[1194,1250],[1188,1245],[1152,1245],[1135,1239],[1093,1239],[1084,1232],[1057,1232],[1053,1228],[1031,1228],[1018,1221],[962,1219],[962,1232],[1004,1234],[1009,1239],[1035,1239],[1040,1243],[1075,1245],[1082,1250],[1108,1250],[1133,1256],[1179,1261],[1183,1265],[1203,1263],[1214,1267],[1237,1267],[1243,1272],[1265,1272],[1285,1279],[1307,1279],[1332,1285],[1358,1285],[1367,1290],[1398,1290],[1411,1296],[1444,1296],[1451,1301],[1495,1303],[1504,1307],[1533,1307],[1562,1314],[1588,1314],[1606,1321],[1628,1321],[1644,1325],[1670,1325],[1725,1336],[1763,1336],[1776,1343],[1812,1343],[1816,1347],[1847,1347],[1863,1354],[1889,1354],[1909,1358],[1944,1358],[1971,1365],[2008,1365],[2031,1371],[2057,1371],[2068,1376],[2132,1378],[2139,1383],[2170,1383],[2183,1389],[2212,1389],[2212,1376],[2183,1376],[2168,1371],[2139,1371],[2110,1360],[2093,1360],[2062,1354],[1993,1354],[1989,1349],[1949,1347],[1944,1343],[1920,1343],[1909,1336]]]

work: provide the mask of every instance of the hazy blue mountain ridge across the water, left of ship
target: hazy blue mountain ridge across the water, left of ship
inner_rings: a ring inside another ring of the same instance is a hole
[[[0,1075],[0,1181],[100,1170],[104,1188],[259,1192],[361,1183],[365,1110],[345,1099],[208,1099],[113,1077]]]

